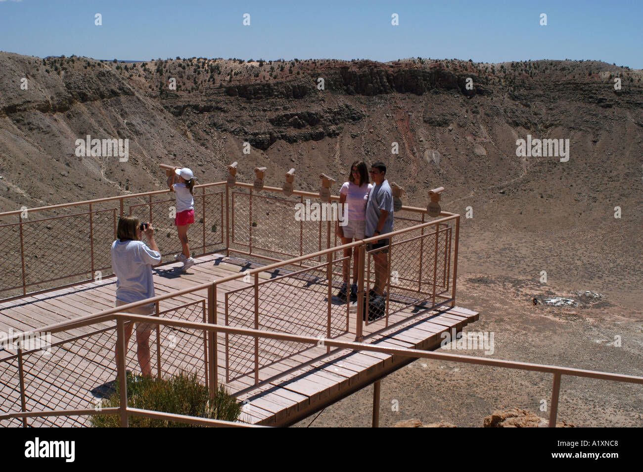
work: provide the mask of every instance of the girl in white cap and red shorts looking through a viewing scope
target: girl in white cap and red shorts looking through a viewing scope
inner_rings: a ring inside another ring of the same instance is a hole
[[[174,181],[178,179],[177,183]],[[174,256],[178,262],[183,262],[181,272],[194,266],[196,261],[190,257],[190,246],[188,245],[188,228],[194,223],[194,199],[192,190],[194,189],[194,174],[187,167],[175,167],[174,172],[168,177],[167,185],[170,190],[176,192],[176,218],[174,224],[179,232],[182,252]]]

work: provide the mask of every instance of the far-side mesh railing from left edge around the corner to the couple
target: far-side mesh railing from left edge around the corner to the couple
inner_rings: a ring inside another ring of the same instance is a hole
[[[194,188],[195,224],[188,229],[194,255],[224,250],[228,256],[279,262],[339,243],[335,222],[294,220],[294,204],[316,201],[317,193],[294,190],[285,197],[281,188],[266,186],[257,192],[247,183],[230,188],[226,182]],[[167,256],[179,253],[181,244],[174,199],[168,194],[170,190],[154,190],[0,213],[0,296],[10,300],[111,277],[111,244],[123,215],[152,222],[163,262],[174,262]],[[425,218],[425,209],[403,206],[395,213],[395,228]],[[323,260],[308,264],[315,262]]]

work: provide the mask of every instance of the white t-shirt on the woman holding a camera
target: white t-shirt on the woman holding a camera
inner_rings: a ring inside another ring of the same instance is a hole
[[[152,251],[143,241],[114,241],[112,270],[116,274],[116,300],[133,303],[152,298],[152,265],[159,262],[161,254]]]

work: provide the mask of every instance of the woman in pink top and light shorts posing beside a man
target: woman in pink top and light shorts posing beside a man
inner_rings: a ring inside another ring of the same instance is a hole
[[[368,168],[363,161],[355,161],[350,166],[349,181],[341,186],[340,205],[345,204],[344,215],[348,219],[346,226],[338,224],[337,235],[341,238],[341,244],[349,244],[354,239],[364,239],[365,214],[368,194],[373,188],[368,183]],[[349,284],[350,255],[352,248],[344,250],[343,277],[344,283],[337,294],[341,300],[346,300]],[[358,298],[358,251],[353,257],[353,283],[350,286],[350,300]]]

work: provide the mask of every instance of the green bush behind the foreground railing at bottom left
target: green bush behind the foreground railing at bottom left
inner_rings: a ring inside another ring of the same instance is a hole
[[[118,407],[119,386],[116,381],[114,394],[104,408]],[[223,385],[215,392],[210,402],[208,387],[201,385],[196,374],[181,372],[178,376],[159,380],[156,377],[141,377],[127,374],[127,397],[129,406],[141,410],[175,413],[200,418],[236,421],[241,413],[241,404],[226,391]],[[95,428],[118,428],[118,415],[92,415],[91,426]],[[185,428],[194,427],[192,424],[165,421],[161,419],[130,416],[129,426],[133,428]]]

